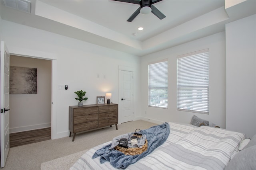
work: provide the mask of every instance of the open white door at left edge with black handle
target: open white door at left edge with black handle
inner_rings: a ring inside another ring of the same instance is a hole
[[[1,41],[1,61],[0,61],[0,141],[1,141],[1,168],[5,166],[6,158],[10,149],[9,138],[9,73],[10,54]]]

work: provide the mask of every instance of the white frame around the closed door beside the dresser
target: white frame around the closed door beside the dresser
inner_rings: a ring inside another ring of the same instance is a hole
[[[120,70],[122,70],[122,71],[130,71],[130,72],[132,72],[133,73],[133,75],[134,75],[134,68],[132,68],[132,67],[129,67],[129,66],[122,66],[122,65],[119,65],[118,66],[118,77],[119,77],[119,71]],[[120,80],[118,80],[118,101],[121,101],[121,99],[122,99],[122,96],[121,96],[121,93],[120,93]],[[134,94],[134,79],[133,79],[133,81],[132,81],[132,94]],[[132,96],[132,111],[134,112],[134,96]],[[119,102],[118,102],[119,103]],[[118,113],[119,113],[119,115],[121,115],[121,112],[120,112],[120,107],[118,107]],[[118,115],[118,123],[119,122],[121,122],[120,121],[120,117],[121,116],[119,116]],[[132,119],[133,119],[133,121],[134,121],[134,115],[133,115],[133,117],[132,117]],[[119,123],[120,124],[120,123]]]

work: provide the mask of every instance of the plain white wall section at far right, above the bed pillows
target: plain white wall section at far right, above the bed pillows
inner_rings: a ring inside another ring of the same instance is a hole
[[[256,134],[256,15],[226,24],[226,128]]]

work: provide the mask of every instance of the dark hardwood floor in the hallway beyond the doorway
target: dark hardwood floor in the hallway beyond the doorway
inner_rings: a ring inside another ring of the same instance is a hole
[[[51,139],[51,127],[10,133],[10,148]]]

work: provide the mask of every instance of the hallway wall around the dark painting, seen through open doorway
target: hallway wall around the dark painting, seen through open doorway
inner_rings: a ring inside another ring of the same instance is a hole
[[[51,61],[11,55],[10,66],[37,68],[37,94],[10,94],[10,133],[51,127]]]

